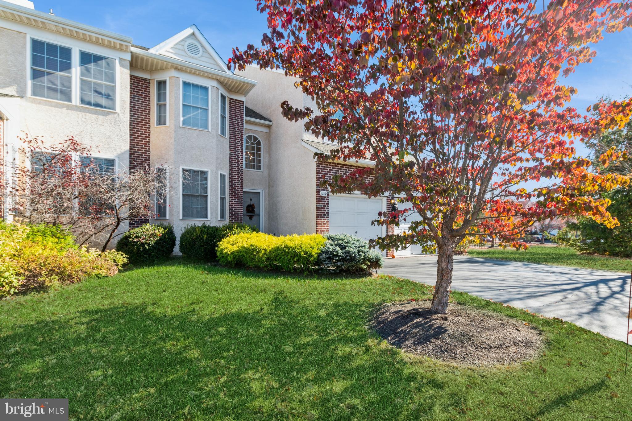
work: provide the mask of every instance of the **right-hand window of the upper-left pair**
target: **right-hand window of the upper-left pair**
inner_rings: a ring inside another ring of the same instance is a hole
[[[114,110],[116,108],[116,60],[80,52],[81,104]]]

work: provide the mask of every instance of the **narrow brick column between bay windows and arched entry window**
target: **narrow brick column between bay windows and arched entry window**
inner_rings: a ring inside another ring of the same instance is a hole
[[[228,100],[228,220],[243,223],[243,101]]]

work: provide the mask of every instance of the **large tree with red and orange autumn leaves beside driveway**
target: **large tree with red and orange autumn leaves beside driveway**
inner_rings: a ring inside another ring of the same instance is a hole
[[[410,203],[376,223],[411,213],[420,221],[376,244],[436,245],[432,311],[446,312],[454,246],[466,235],[521,247],[525,228],[553,216],[616,225],[598,193],[628,180],[590,172],[573,143],[622,127],[631,101],[602,101],[582,115],[568,105],[576,89],[562,81],[592,60],[590,44],[604,32],[631,25],[629,0],[259,0],[257,8],[269,33],[262,47],[234,49],[233,68],[257,63],[300,78],[317,107],[281,108],[339,145],[319,159],[375,161],[324,181],[332,193],[390,192]]]

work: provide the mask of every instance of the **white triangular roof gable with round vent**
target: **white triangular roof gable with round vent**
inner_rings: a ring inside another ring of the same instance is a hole
[[[192,44],[191,41],[193,41]],[[200,47],[199,56],[197,54],[191,55],[190,52],[196,52],[198,47]],[[187,52],[187,49],[189,49],[189,52]],[[209,41],[195,25],[191,25],[182,32],[176,33],[176,35],[149,49],[149,51],[229,73],[222,57],[217,54],[217,51],[209,44]]]

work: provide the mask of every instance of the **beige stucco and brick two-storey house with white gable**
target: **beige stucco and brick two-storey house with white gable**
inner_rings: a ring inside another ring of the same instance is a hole
[[[323,175],[373,163],[315,162],[315,152],[334,146],[281,116],[284,100],[313,107],[294,83],[252,66],[229,71],[195,25],[147,48],[35,11],[30,1],[0,0],[4,177],[22,132],[51,142],[74,136],[107,165],[168,174],[151,222],[169,222],[176,234],[227,222],[276,235],[392,232],[371,224],[389,198],[319,187]]]

